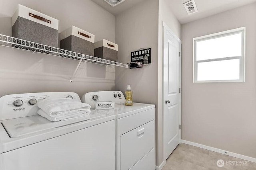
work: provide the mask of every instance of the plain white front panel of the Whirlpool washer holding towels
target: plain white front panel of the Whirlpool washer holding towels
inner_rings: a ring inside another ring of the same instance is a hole
[[[115,120],[0,154],[0,170],[114,170]]]

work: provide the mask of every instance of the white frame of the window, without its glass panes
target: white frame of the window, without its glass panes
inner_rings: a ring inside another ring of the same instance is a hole
[[[196,42],[198,41],[204,41],[208,39],[214,39],[218,37],[225,37],[227,35],[233,35],[236,33],[242,33],[242,51],[241,56],[233,56],[233,57],[227,57],[227,58],[220,58],[220,59],[207,59],[207,60],[201,60],[196,61]],[[231,29],[228,31],[222,31],[219,33],[214,33],[210,35],[204,35],[201,37],[196,37],[193,39],[193,82],[194,83],[206,83],[206,82],[245,82],[245,27],[240,27],[236,29]],[[240,79],[239,80],[207,80],[207,81],[198,81],[197,80],[197,67],[198,63],[203,62],[210,62],[210,61],[223,61],[223,60],[230,60],[230,59],[239,59],[240,60]]]

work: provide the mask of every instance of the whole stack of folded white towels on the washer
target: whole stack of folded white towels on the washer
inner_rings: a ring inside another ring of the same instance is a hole
[[[38,102],[38,115],[50,121],[68,120],[90,114],[91,106],[71,98],[48,98]]]

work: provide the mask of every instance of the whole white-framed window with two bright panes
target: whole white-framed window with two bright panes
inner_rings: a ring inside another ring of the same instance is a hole
[[[244,82],[245,27],[194,41],[194,82]]]

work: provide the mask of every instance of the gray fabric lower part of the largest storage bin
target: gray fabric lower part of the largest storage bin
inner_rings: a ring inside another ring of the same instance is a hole
[[[58,30],[18,16],[12,26],[12,37],[58,47]]]

